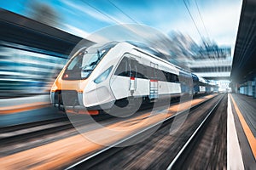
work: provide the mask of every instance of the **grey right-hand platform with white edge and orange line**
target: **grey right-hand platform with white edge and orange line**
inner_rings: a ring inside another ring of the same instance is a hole
[[[256,165],[256,99],[229,94],[228,168],[253,169]]]

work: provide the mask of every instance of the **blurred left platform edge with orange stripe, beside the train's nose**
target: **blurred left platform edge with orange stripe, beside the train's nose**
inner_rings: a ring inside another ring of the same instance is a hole
[[[0,127],[44,121],[63,114],[51,107],[49,94],[30,97],[0,99]]]

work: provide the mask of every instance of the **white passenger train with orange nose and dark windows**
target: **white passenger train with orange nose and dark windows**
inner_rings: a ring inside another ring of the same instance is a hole
[[[128,99],[154,102],[212,92],[205,79],[159,56],[157,50],[132,42],[81,48],[56,78],[50,91],[51,103],[60,109],[86,109],[93,115]]]

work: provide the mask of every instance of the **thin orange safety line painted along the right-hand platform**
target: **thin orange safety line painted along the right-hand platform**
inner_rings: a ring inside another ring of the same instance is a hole
[[[239,120],[241,122],[241,127],[243,128],[243,131],[247,136],[247,140],[249,142],[251,150],[253,151],[254,159],[256,159],[256,139],[253,136],[253,133],[252,133],[250,127],[247,125],[247,122],[245,121],[244,117],[242,116],[241,111],[239,110],[238,106],[236,105],[236,101],[233,99],[232,94],[230,94],[230,97],[231,97],[232,103],[235,107],[236,114],[239,117]]]

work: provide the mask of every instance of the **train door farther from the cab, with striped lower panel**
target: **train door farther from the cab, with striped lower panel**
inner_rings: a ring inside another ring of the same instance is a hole
[[[149,82],[149,99],[158,99],[158,65],[154,63],[150,63],[151,73],[150,73],[150,82]]]

